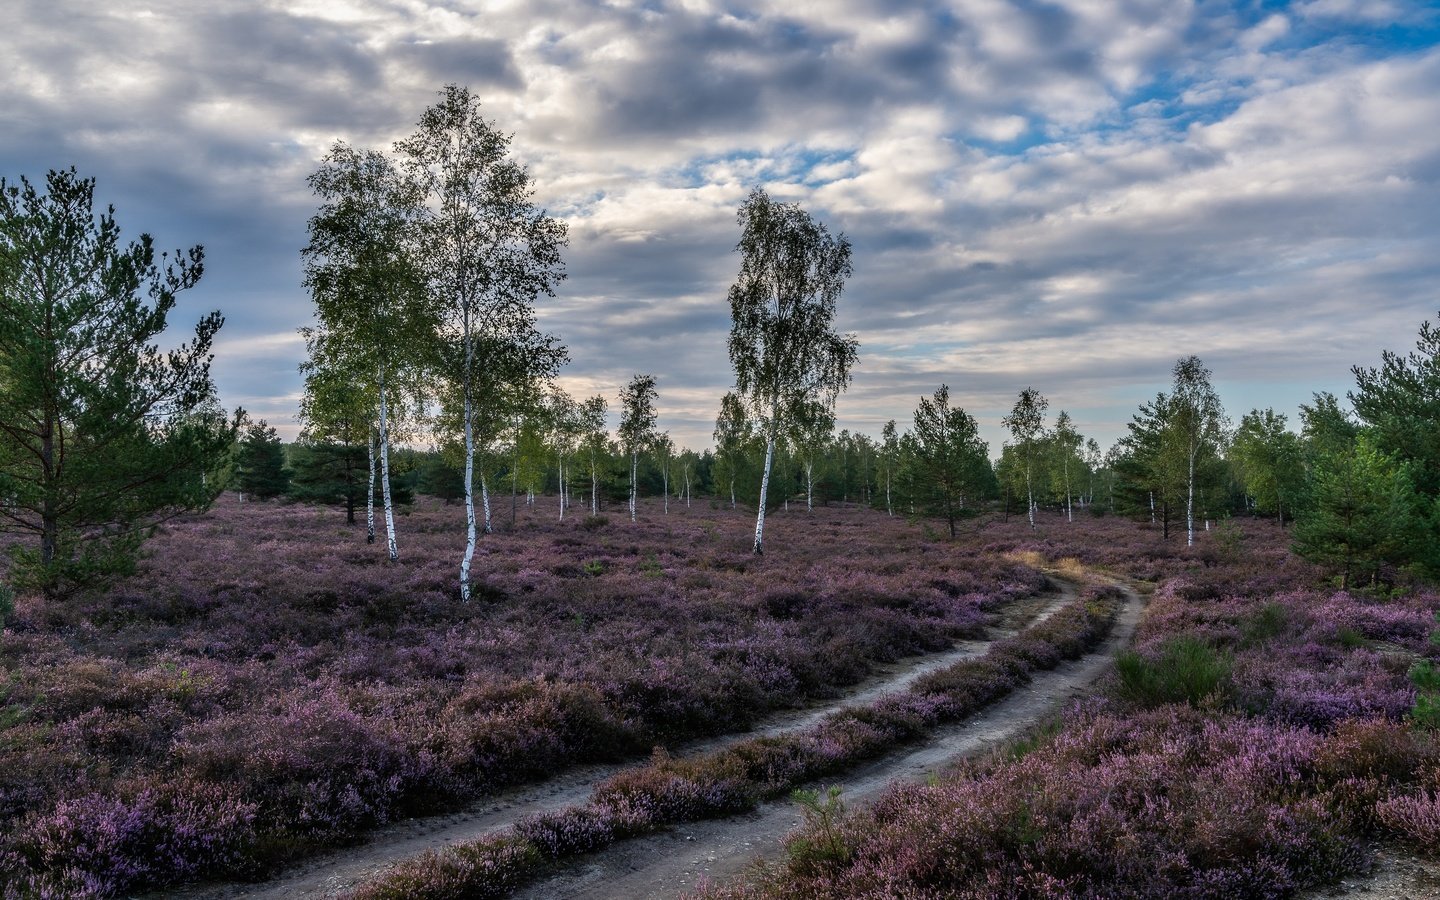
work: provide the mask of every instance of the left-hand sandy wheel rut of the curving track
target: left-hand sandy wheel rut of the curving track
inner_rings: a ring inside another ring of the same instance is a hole
[[[904,690],[926,672],[946,668],[960,660],[984,655],[994,639],[1014,635],[1021,628],[1043,622],[1076,598],[1076,586],[1073,583],[1054,579],[1053,585],[1058,588],[1057,592],[1024,598],[999,611],[996,626],[991,629],[991,639],[962,641],[939,654],[912,657],[890,665],[877,667],[874,675],[847,688],[835,700],[802,710],[775,713],[756,723],[749,732],[688,742],[672,749],[672,755],[711,753],[752,737],[805,729],[841,707],[873,703],[884,694]],[[459,812],[396,822],[370,832],[360,845],[328,851],[294,865],[269,881],[255,884],[202,884],[160,891],[150,894],[150,897],[171,897],[179,900],[337,897],[373,878],[389,865],[426,850],[444,850],[454,844],[474,841],[513,825],[524,815],[583,804],[590,798],[590,792],[596,785],[634,765],[636,763],[576,766],[544,782],[521,785],[485,798]],[[624,851],[618,848],[618,852]]]

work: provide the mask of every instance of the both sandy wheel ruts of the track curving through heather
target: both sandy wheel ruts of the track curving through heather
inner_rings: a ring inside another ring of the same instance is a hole
[[[1074,583],[1060,576],[1053,576],[1053,583],[1057,590],[1024,598],[1001,609],[989,639],[962,641],[939,654],[912,657],[881,667],[835,700],[802,710],[779,711],[749,732],[690,742],[672,749],[672,753],[710,753],[756,736],[811,727],[841,707],[873,703],[884,694],[906,690],[926,672],[984,655],[994,639],[1047,619],[1076,598]],[[1110,657],[1129,641],[1139,608],[1139,599],[1129,595],[1110,638],[1096,652],[1037,677],[1008,700],[962,726],[939,732],[923,746],[855,770],[841,782],[847,799],[861,798],[897,778],[943,768],[959,756],[999,743],[1040,721],[1104,671]],[[596,785],[631,765],[634,763],[576,766],[544,782],[490,796],[455,814],[396,822],[372,832],[364,844],[317,855],[271,881],[206,884],[158,896],[183,900],[337,897],[392,864],[426,850],[474,841],[513,825],[524,815],[583,804]],[[674,896],[691,887],[698,874],[739,871],[753,855],[778,850],[779,838],[796,821],[798,815],[791,805],[770,804],[733,819],[684,825],[652,838],[625,841],[546,880],[531,888],[528,896]]]

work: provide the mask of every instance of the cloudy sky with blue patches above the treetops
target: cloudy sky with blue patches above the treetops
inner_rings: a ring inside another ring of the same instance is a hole
[[[949,384],[998,454],[1027,386],[1102,446],[1200,356],[1296,423],[1440,310],[1440,10],[1423,0],[7,0],[0,176],[75,166],[128,235],[203,243],[171,315],[298,431],[305,179],[446,84],[569,225],[540,324],[612,409],[703,448],[753,187],[852,243],[838,426]]]

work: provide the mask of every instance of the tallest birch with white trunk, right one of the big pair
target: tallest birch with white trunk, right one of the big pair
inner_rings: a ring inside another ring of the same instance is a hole
[[[566,226],[534,203],[530,174],[510,158],[510,135],[481,115],[468,88],[446,85],[413,135],[396,144],[426,196],[425,246],[431,291],[444,301],[439,346],[444,369],[459,386],[465,468],[465,552],[461,600],[469,600],[475,556],[475,418],[492,387],[514,369],[544,374],[564,361],[557,353],[501,366],[517,346],[537,341],[534,302],[553,297],[564,278]],[[516,364],[518,363],[518,364]],[[528,363],[528,366],[526,364]],[[491,384],[485,384],[490,380]],[[482,501],[488,507],[488,491]],[[488,520],[488,510],[487,510]]]

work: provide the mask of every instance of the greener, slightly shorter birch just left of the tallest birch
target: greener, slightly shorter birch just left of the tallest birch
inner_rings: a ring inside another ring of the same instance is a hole
[[[418,184],[383,154],[337,141],[310,176],[321,199],[302,251],[305,287],[334,359],[376,397],[386,552],[399,559],[390,492],[390,405],[423,364],[432,315],[416,268]]]

